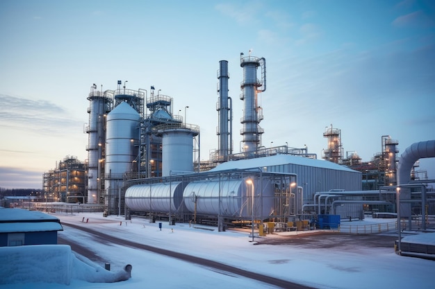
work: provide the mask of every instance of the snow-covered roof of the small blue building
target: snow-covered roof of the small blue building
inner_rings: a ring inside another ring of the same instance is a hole
[[[0,233],[26,231],[63,231],[60,220],[40,211],[0,209]]]

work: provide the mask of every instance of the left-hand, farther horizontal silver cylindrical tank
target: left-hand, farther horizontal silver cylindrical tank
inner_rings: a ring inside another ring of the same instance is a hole
[[[125,193],[125,204],[132,211],[175,212],[182,201],[182,182],[138,184]]]

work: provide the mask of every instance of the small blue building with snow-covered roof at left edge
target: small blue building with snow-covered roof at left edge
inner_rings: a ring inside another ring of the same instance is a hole
[[[60,220],[40,211],[0,208],[0,247],[56,245]]]

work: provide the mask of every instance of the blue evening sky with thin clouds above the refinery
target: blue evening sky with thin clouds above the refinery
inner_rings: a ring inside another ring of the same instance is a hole
[[[88,158],[94,83],[161,89],[175,114],[199,125],[208,159],[217,149],[220,60],[229,62],[240,152],[240,53],[250,49],[266,60],[258,95],[265,147],[307,146],[320,159],[330,125],[341,130],[345,155],[363,161],[381,152],[383,135],[399,141],[399,155],[435,139],[431,0],[3,0],[0,37],[2,188],[42,188],[56,161]],[[434,159],[419,169],[435,179]]]

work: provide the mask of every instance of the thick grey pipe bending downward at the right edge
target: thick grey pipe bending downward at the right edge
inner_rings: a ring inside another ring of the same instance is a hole
[[[409,146],[400,156],[398,184],[409,184],[411,169],[418,159],[435,157],[435,140],[420,141]]]

